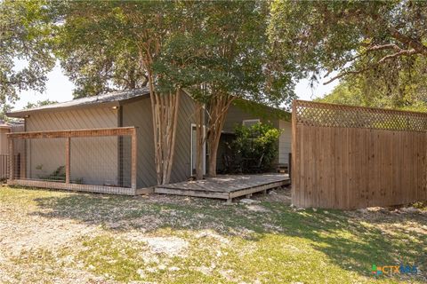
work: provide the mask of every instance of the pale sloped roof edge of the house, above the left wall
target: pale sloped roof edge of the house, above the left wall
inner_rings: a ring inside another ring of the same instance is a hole
[[[63,103],[57,103],[47,106],[38,106],[34,108],[22,109],[7,113],[10,117],[24,117],[28,114],[34,114],[38,112],[46,111],[61,111],[68,110],[71,108],[80,108],[86,106],[119,106],[120,102],[128,99],[136,99],[142,96],[149,95],[149,88],[144,87],[141,89],[134,89],[128,91],[113,91],[99,96],[87,97],[82,99],[73,99]]]

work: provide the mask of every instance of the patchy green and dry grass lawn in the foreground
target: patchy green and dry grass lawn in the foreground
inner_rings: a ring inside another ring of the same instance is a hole
[[[427,214],[0,187],[1,283],[424,283]],[[375,277],[372,264],[416,264]]]

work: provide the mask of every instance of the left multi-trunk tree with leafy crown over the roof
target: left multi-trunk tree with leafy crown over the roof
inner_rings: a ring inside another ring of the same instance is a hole
[[[158,184],[171,176],[182,86],[162,83],[155,67],[167,58],[166,43],[194,26],[187,17],[197,11],[190,10],[194,4],[64,1],[51,6],[61,19],[56,54],[80,86],[77,96],[149,85]]]

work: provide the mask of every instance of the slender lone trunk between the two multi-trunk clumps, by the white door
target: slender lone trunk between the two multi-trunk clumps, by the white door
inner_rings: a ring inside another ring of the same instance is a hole
[[[197,154],[196,154],[196,178],[197,180],[203,179],[204,167],[204,151],[205,146],[205,107],[202,103],[196,103],[196,141],[197,141]]]

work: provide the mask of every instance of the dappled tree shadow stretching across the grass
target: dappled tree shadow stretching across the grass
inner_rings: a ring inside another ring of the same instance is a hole
[[[420,268],[427,264],[425,233],[399,226],[409,222],[417,227],[427,225],[427,217],[422,215],[391,216],[379,212],[366,217],[339,210],[296,211],[278,202],[262,202],[267,211],[260,212],[240,204],[227,206],[223,201],[160,195],[67,194],[35,201],[40,210],[33,214],[103,225],[107,230],[214,230],[250,241],[262,241],[269,234],[302,238],[342,269],[365,276],[372,264],[416,264]],[[382,225],[393,224],[396,225],[391,233],[382,229]],[[252,233],[239,234],[248,231]]]

